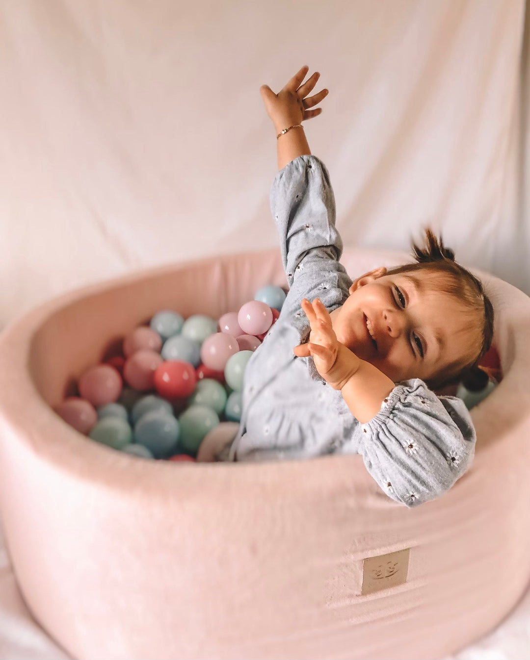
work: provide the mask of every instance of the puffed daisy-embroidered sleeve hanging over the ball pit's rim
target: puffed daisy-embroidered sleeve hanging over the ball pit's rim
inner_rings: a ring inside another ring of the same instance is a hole
[[[419,378],[402,381],[360,424],[359,453],[393,500],[419,506],[449,490],[469,468],[476,433],[457,397],[437,397]]]

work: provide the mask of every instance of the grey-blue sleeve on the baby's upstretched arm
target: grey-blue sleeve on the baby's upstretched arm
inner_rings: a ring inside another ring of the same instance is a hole
[[[335,227],[335,197],[328,170],[316,156],[298,156],[280,170],[270,191],[285,275],[292,286],[304,269],[338,261],[342,238]]]

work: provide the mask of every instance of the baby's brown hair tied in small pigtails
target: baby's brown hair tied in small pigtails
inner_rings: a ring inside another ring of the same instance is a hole
[[[389,269],[386,275],[417,273],[422,276],[422,279],[432,276],[429,286],[431,290],[444,292],[457,298],[469,315],[474,319],[480,319],[477,331],[480,348],[477,349],[475,344],[473,348],[467,350],[461,360],[449,364],[443,372],[434,374],[429,379],[427,384],[432,389],[441,389],[476,372],[478,363],[491,347],[494,312],[490,298],[484,292],[482,282],[455,261],[454,251],[443,245],[441,236],[437,238],[430,227],[424,228],[424,233],[424,246],[418,246],[412,242],[413,256],[417,263],[406,263]]]

